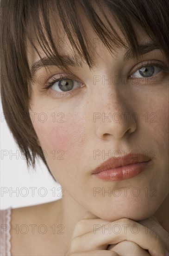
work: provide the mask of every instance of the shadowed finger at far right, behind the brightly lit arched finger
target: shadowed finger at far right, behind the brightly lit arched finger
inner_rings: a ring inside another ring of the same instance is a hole
[[[158,234],[166,246],[166,249],[169,250],[169,233],[163,229],[159,222],[154,218],[150,217],[143,221],[138,221],[138,223],[144,225],[145,227],[151,229],[150,234]]]

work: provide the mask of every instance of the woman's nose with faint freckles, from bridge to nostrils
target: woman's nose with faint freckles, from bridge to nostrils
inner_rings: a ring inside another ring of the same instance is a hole
[[[114,139],[119,140],[128,138],[136,131],[137,115],[134,115],[135,111],[133,111],[133,106],[136,104],[133,104],[130,96],[127,88],[124,90],[117,86],[100,88],[100,90],[97,88],[93,101],[95,106],[93,120],[96,135],[100,139],[113,136]]]

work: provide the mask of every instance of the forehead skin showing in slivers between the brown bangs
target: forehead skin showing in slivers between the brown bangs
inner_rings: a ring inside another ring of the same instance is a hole
[[[101,13],[100,9],[97,9],[95,11],[97,15],[100,17],[100,19],[103,21],[105,27],[110,27],[107,20]],[[79,7],[78,13],[79,13],[79,16],[81,17],[81,21],[83,25],[83,27],[81,28],[82,40],[83,40],[84,46],[87,47],[90,56],[94,60],[98,55],[104,56],[106,51],[104,42],[100,40],[100,38],[94,31],[93,26],[91,25],[90,21],[88,20],[87,16],[85,15],[81,7]],[[113,29],[117,32],[119,37],[124,41],[126,46],[128,46],[127,40],[125,39],[125,36],[122,33],[122,30],[118,26],[113,15],[109,12],[109,9],[107,9],[106,16],[111,26],[113,27]],[[27,51],[27,57],[28,57],[28,62],[30,67],[34,62],[38,61],[40,57],[44,57],[47,55],[48,51],[43,49],[44,47],[42,47],[44,45],[45,40],[48,42],[48,47],[50,48],[50,52],[53,52],[53,45],[51,44],[49,37],[47,36],[46,31],[44,29],[45,28],[44,19],[42,18],[41,15],[39,16],[39,18],[40,18],[42,30],[44,31],[44,38],[39,40],[37,37],[37,34],[31,31],[31,27],[29,28],[30,34],[32,35],[31,39],[33,39],[33,44],[37,47],[38,53],[40,55],[40,56],[38,55],[35,48],[32,46],[31,42],[29,41],[26,51]],[[77,21],[78,20],[76,20],[76,22]],[[134,27],[134,30],[139,42],[146,42],[146,41],[148,42],[150,40],[150,37],[145,33],[142,27],[135,24],[134,22],[132,25]],[[79,55],[82,55],[82,54],[79,54],[77,49],[75,49],[75,47],[72,46],[71,38],[70,38],[70,35],[72,35],[73,39],[76,42],[76,45],[77,46],[79,45],[79,41],[75,37],[75,33],[74,33],[75,28],[71,27],[70,24],[68,24],[69,31],[65,31],[62,20],[58,15],[58,10],[56,10],[55,8],[50,8],[49,26],[50,26],[51,37],[53,38],[54,46],[56,47],[58,53],[60,55],[73,56],[76,60],[79,60]],[[68,38],[68,34],[69,34],[69,38]],[[113,39],[111,38],[108,41],[112,46],[114,52],[116,52],[116,50],[118,50],[121,47],[120,45],[117,46],[117,44],[114,43]],[[81,52],[80,47],[79,47],[79,52]]]

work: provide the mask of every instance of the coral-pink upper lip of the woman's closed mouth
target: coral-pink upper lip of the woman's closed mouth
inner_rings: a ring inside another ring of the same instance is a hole
[[[99,167],[95,168],[92,174],[97,174],[103,171],[110,170],[112,168],[117,168],[133,163],[138,163],[138,162],[148,162],[150,161],[150,158],[147,155],[143,154],[128,154],[121,156],[119,159],[112,157],[105,162],[103,162]]]

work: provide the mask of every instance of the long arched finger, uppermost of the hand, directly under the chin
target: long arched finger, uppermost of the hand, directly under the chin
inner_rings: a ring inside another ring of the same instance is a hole
[[[111,225],[117,225],[120,227],[119,233],[112,232],[113,228]],[[138,232],[133,232],[131,226],[135,225]],[[127,232],[124,229],[127,227]],[[108,230],[107,230],[108,229]],[[105,249],[107,244],[120,243],[122,241],[131,241],[137,243],[141,248],[149,250],[150,255],[153,256],[164,256],[165,247],[161,238],[157,234],[150,234],[150,229],[147,229],[145,233],[145,227],[138,222],[134,222],[130,219],[120,219],[118,221],[105,224],[97,232],[90,232],[82,236],[75,237],[72,241],[73,251],[77,251],[77,245],[81,244],[82,250],[91,251],[94,249]]]

